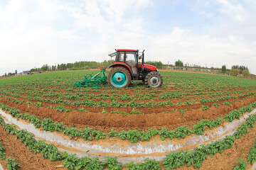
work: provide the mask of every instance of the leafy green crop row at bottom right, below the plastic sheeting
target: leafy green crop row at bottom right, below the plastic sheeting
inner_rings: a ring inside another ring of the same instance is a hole
[[[171,154],[166,155],[162,164],[166,169],[176,169],[185,164],[187,166],[193,164],[195,169],[200,168],[208,156],[213,157],[217,152],[222,154],[225,149],[233,146],[235,139],[239,139],[242,135],[247,135],[249,129],[252,130],[254,127],[255,121],[256,115],[250,115],[244,123],[240,124],[234,135],[226,136],[223,140],[210,142],[208,145],[199,145],[193,150],[171,152]]]

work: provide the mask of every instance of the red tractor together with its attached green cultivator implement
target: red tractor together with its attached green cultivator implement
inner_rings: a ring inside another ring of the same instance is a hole
[[[125,88],[131,84],[132,80],[142,80],[144,84],[151,88],[160,87],[163,84],[163,77],[158,69],[152,65],[144,64],[144,50],[117,49],[110,54],[115,57],[114,64],[107,77],[106,67],[101,67],[101,71],[92,76],[87,74],[84,79],[77,81],[77,87],[100,87],[100,84],[107,83],[117,88]],[[101,77],[99,75],[101,74]]]

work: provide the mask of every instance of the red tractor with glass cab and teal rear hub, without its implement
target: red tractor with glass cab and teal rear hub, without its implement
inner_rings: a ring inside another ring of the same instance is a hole
[[[144,50],[139,56],[139,50],[117,49],[110,54],[110,57],[114,56],[114,64],[110,66],[112,69],[107,76],[107,83],[110,86],[124,88],[131,84],[131,80],[142,80],[146,86],[152,88],[163,84],[163,77],[157,68],[144,64]]]

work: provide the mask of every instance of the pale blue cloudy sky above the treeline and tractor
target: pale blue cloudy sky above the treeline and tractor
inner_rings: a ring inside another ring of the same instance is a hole
[[[255,18],[255,0],[0,0],[0,75],[103,62],[118,48],[256,74]]]

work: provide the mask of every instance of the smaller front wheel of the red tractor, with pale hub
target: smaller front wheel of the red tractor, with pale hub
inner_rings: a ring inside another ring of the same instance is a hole
[[[160,87],[163,84],[163,77],[159,72],[149,72],[146,74],[144,84],[152,88]]]

